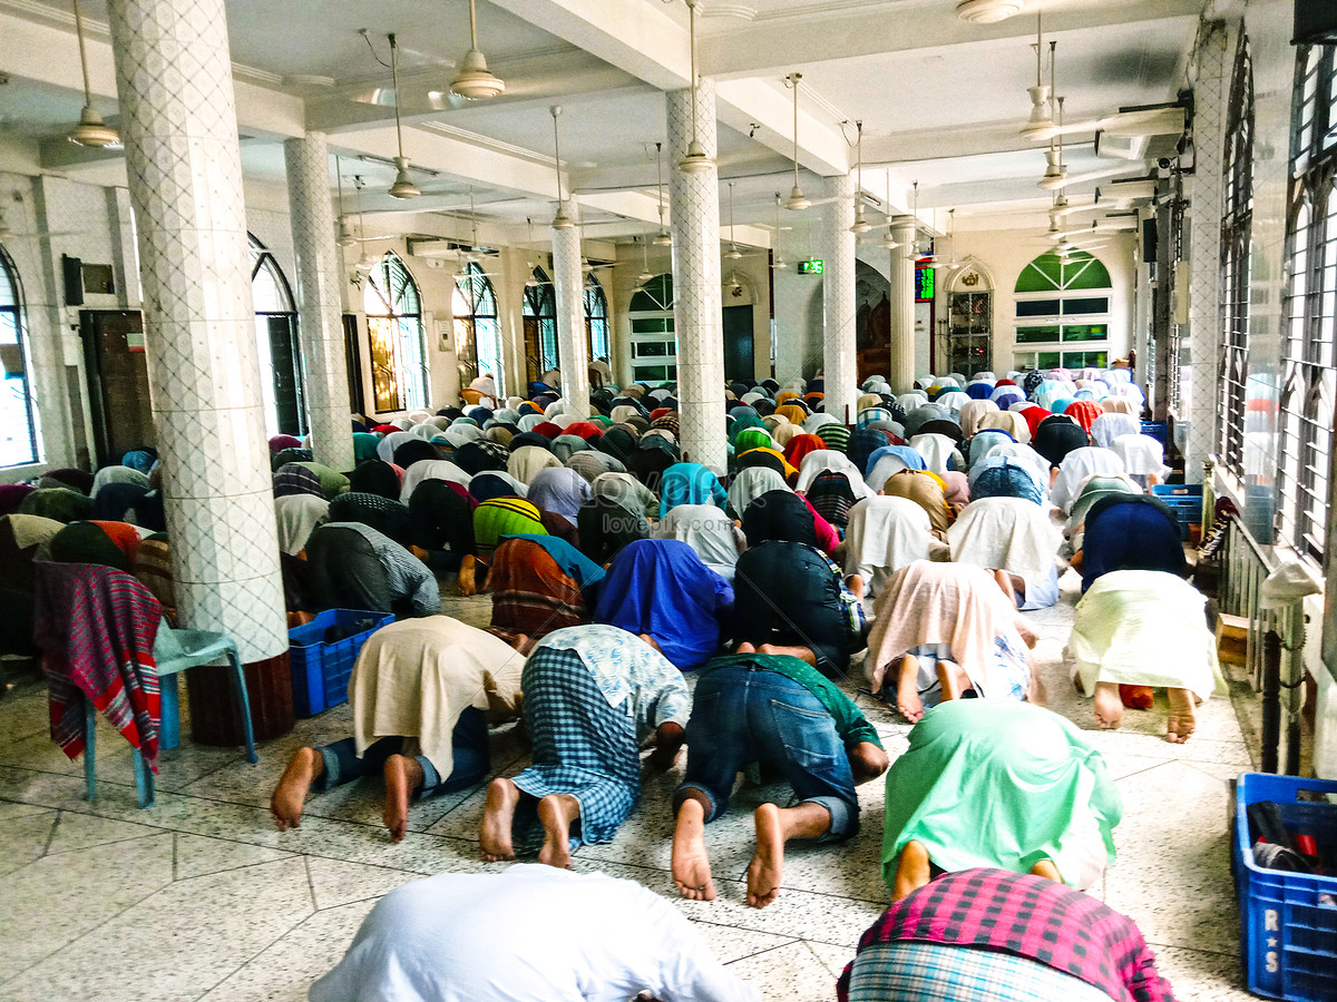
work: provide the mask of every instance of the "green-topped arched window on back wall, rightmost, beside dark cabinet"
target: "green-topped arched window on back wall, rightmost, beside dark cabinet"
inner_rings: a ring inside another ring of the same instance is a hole
[[[1086,251],[1042,254],[1016,279],[1017,369],[1104,367],[1110,271]]]

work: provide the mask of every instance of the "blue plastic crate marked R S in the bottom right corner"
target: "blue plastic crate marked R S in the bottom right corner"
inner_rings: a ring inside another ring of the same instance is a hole
[[[1249,990],[1267,998],[1337,998],[1337,876],[1266,870],[1253,860],[1251,803],[1271,800],[1294,834],[1314,836],[1325,859],[1337,858],[1337,804],[1297,800],[1337,794],[1337,783],[1269,772],[1241,774],[1230,868],[1239,895],[1239,946]]]

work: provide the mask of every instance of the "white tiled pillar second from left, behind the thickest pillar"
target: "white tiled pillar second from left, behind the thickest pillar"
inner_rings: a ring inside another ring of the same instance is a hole
[[[330,158],[324,132],[283,143],[287,199],[297,257],[298,333],[302,343],[302,389],[316,461],[336,470],[353,469],[353,425],[349,420],[348,358],[340,303],[344,270],[334,242],[330,202]]]

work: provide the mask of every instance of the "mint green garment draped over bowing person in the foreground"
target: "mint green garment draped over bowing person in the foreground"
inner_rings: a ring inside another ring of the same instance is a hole
[[[1029,872],[1052,859],[1075,883],[1099,830],[1114,862],[1119,791],[1100,752],[1068,720],[1029,703],[960,699],[928,711],[886,772],[882,879],[896,880],[906,842],[955,872]]]

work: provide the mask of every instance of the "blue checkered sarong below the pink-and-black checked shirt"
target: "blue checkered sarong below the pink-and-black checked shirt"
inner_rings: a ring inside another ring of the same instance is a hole
[[[849,1002],[1110,1002],[1088,985],[1028,957],[916,941],[858,951]]]

